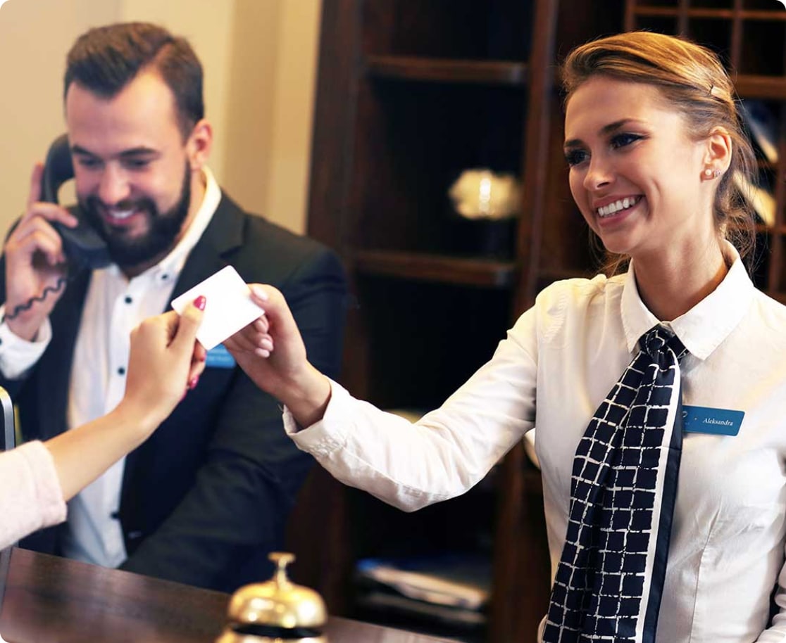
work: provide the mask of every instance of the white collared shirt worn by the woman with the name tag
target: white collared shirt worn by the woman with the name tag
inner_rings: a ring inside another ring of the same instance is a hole
[[[786,307],[727,252],[723,282],[670,327],[690,351],[685,404],[745,415],[734,437],[685,433],[657,643],[786,641]],[[339,480],[411,511],[467,491],[537,425],[554,573],[578,441],[658,323],[633,270],[546,288],[493,358],[415,425],[332,383],[325,417],[300,429],[285,411],[287,432]],[[781,613],[765,631],[776,586]]]

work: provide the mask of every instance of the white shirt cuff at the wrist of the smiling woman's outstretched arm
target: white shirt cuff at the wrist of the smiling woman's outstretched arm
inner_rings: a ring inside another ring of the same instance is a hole
[[[311,426],[300,426],[287,407],[284,407],[284,430],[297,448],[315,456],[329,455],[343,448],[347,442],[346,418],[352,396],[342,385],[330,382],[330,400],[325,415]]]

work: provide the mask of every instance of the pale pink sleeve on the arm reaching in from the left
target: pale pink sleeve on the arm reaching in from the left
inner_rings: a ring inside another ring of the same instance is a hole
[[[0,548],[64,521],[65,512],[54,460],[42,442],[0,453]]]

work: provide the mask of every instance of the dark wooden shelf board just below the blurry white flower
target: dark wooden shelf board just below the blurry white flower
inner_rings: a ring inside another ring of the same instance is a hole
[[[365,275],[491,288],[512,287],[517,272],[513,261],[391,250],[356,250],[353,263]]]

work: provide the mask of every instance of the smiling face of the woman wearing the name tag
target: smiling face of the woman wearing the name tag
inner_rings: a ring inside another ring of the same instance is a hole
[[[607,250],[667,259],[716,237],[707,141],[688,137],[655,86],[584,82],[567,102],[564,148],[573,198]]]

